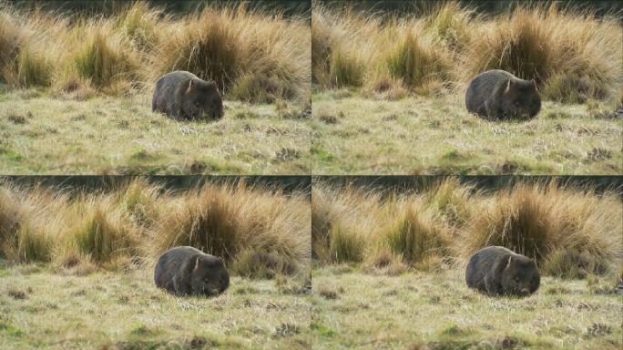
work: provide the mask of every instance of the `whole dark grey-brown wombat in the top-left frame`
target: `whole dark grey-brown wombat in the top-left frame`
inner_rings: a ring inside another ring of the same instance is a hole
[[[223,118],[223,100],[216,83],[180,70],[158,79],[151,109],[170,118]]]

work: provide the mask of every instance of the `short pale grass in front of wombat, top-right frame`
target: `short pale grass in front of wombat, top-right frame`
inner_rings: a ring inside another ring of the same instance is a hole
[[[546,102],[529,122],[488,122],[463,99],[314,94],[315,174],[616,174],[623,171],[623,119],[586,106]]]

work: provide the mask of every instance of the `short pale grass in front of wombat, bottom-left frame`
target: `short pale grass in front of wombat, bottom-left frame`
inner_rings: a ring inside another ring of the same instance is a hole
[[[0,276],[2,349],[310,346],[309,297],[293,281],[233,277],[227,293],[203,299],[158,290],[150,270],[76,276],[31,264]]]

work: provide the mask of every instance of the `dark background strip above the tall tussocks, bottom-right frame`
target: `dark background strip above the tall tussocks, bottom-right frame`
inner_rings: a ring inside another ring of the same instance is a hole
[[[552,180],[577,190],[590,190],[597,194],[613,191],[623,198],[623,176],[314,176],[312,182],[319,181],[337,187],[368,187],[378,190],[425,190],[445,178],[457,178],[465,184],[472,184],[476,190],[495,191],[517,182],[546,184]]]

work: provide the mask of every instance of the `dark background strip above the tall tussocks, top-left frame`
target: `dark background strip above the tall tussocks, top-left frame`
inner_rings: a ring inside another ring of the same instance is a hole
[[[163,8],[171,15],[183,14],[196,9],[201,9],[206,5],[213,6],[232,6],[246,5],[249,9],[261,8],[267,11],[278,10],[283,15],[310,15],[311,1],[305,0],[147,0],[150,5]],[[46,11],[59,11],[63,13],[81,13],[86,15],[106,15],[114,13],[115,10],[131,5],[129,0],[13,0],[15,7],[30,9],[35,7],[43,8]]]

